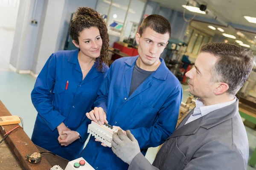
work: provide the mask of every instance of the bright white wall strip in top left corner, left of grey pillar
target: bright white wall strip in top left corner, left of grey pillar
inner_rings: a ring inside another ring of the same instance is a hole
[[[20,0],[14,4],[0,2],[0,57],[10,62]]]

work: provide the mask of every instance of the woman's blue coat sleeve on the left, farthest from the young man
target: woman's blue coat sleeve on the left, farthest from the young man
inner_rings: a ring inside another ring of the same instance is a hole
[[[53,108],[51,90],[55,82],[56,57],[52,54],[36,79],[31,93],[32,103],[46,125],[53,131],[65,117]]]

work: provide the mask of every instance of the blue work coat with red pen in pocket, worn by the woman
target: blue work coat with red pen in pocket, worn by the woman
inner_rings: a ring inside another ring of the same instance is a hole
[[[93,107],[97,91],[108,72],[106,65],[105,71],[97,71],[95,63],[82,80],[78,52],[79,49],[52,54],[38,75],[31,93],[32,103],[38,111],[32,141],[68,160],[76,159],[82,150],[90,123],[85,113]],[[56,127],[61,122],[81,135],[79,140],[67,147],[58,143]]]

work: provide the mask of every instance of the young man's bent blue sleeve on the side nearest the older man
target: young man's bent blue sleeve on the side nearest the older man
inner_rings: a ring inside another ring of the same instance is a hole
[[[169,94],[163,106],[158,112],[158,119],[150,128],[139,127],[131,129],[131,133],[139,142],[140,148],[157,147],[172,135],[175,130],[180,103],[182,99],[182,88],[179,85]]]

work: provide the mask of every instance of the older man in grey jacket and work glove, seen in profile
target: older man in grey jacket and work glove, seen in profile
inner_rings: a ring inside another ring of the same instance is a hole
[[[253,68],[253,52],[233,44],[203,45],[186,73],[199,99],[157,153],[153,165],[127,131],[113,135],[112,150],[130,170],[247,170],[249,147],[236,93]]]

